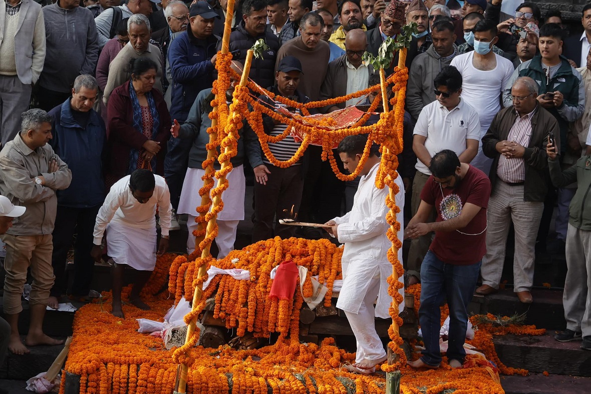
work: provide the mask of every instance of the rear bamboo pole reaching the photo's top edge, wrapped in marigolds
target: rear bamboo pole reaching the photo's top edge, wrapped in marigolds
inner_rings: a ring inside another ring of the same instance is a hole
[[[232,18],[233,18],[233,14],[234,14],[234,1],[235,0],[228,0],[228,6],[226,7],[226,15],[228,15],[228,18],[226,18],[226,21],[224,23],[224,29],[223,29],[223,38],[222,38],[222,53],[226,54],[228,53],[228,51],[230,50],[230,33],[232,32]],[[216,93],[216,103],[219,103],[220,97],[223,98],[225,97],[226,92],[217,92]],[[217,105],[215,107],[213,107],[212,112],[217,112]],[[212,128],[213,130],[215,130],[217,126],[217,118],[213,118],[212,119]],[[207,160],[209,160],[210,164],[207,165],[207,167],[205,168],[205,175],[207,177],[207,175],[211,174],[212,172],[214,172],[213,170],[213,162],[212,162],[212,158],[215,157],[216,154],[216,149],[217,146],[214,145],[214,142],[217,141],[217,132],[213,132],[209,135],[209,146],[211,146],[211,149],[209,149],[207,151]],[[206,178],[207,180],[203,182],[203,187],[207,187],[207,189],[209,190],[209,186],[212,185],[214,183],[213,179],[209,179]],[[206,206],[209,205],[211,203],[211,197],[209,196],[209,193],[203,194],[203,196],[201,196],[201,206]],[[199,213],[199,216],[205,216],[207,214],[207,212],[202,212]],[[197,231],[198,232],[203,232],[203,228],[205,226],[204,224],[205,222],[200,222],[199,226],[197,227]],[[191,234],[189,234],[189,236],[191,236]],[[205,235],[200,235],[198,237],[195,237],[195,250],[199,250],[199,244],[203,241],[203,239],[205,239]]]

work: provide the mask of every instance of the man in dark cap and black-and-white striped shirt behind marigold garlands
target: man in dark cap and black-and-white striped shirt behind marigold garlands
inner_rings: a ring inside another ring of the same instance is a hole
[[[300,103],[309,101],[308,97],[297,91],[301,76],[301,63],[294,56],[286,56],[281,59],[275,73],[275,85],[268,90],[278,96],[286,97]],[[277,112],[284,107],[290,112],[301,115],[300,111],[286,107],[282,103],[274,102],[267,96],[261,96],[262,102],[267,103]],[[287,125],[279,123],[267,115],[262,115],[265,133],[271,136],[281,135]],[[296,142],[293,136],[288,135],[281,141],[270,143],[269,151],[280,161],[287,161],[296,154],[300,142]],[[300,209],[301,193],[304,187],[302,160],[300,159],[291,167],[280,168],[271,164],[264,153],[253,155],[249,158],[255,172],[255,214],[254,227],[252,229],[252,242],[269,239],[273,236],[288,238],[294,235],[296,227],[284,226],[277,223],[273,228],[273,219],[290,218],[292,212]],[[285,210],[285,211],[284,211]],[[291,219],[291,218],[290,218]]]

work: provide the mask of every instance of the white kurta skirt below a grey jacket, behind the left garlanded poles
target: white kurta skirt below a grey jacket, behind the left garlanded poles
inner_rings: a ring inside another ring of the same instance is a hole
[[[202,168],[187,168],[183,190],[178,202],[178,214],[196,215],[196,209],[201,204],[199,189],[203,187],[203,175],[205,175],[205,170]],[[242,165],[233,168],[226,179],[228,180],[228,188],[222,193],[223,210],[217,214],[217,220],[244,220],[246,180]],[[187,222],[187,224],[189,223]]]

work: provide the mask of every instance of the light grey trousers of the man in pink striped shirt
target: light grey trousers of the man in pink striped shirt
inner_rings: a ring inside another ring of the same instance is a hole
[[[534,284],[535,238],[544,203],[524,201],[523,190],[523,185],[511,186],[500,179],[496,181],[486,216],[486,255],[480,269],[483,285],[499,288],[511,222],[515,227],[514,291],[530,290]]]

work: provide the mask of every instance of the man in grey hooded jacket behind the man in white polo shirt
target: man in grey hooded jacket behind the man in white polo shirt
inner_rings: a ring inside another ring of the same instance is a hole
[[[426,105],[436,100],[433,94],[433,79],[445,66],[449,66],[458,54],[454,45],[456,35],[453,34],[451,22],[436,22],[431,35],[433,45],[426,53],[418,54],[414,58],[408,76],[406,106],[414,121]]]

